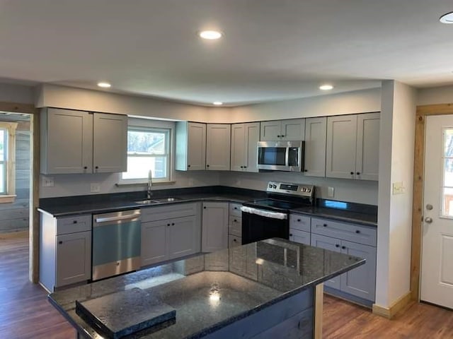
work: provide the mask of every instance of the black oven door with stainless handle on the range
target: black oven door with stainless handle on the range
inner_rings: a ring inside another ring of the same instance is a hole
[[[250,244],[269,238],[289,239],[289,220],[287,213],[278,213],[243,206],[242,244]]]

